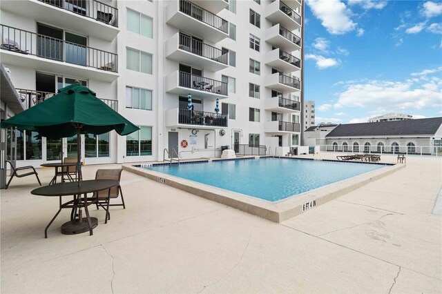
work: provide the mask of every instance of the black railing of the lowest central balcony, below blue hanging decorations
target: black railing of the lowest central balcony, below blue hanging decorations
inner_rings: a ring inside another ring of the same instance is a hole
[[[227,115],[215,112],[179,109],[178,124],[227,127]]]

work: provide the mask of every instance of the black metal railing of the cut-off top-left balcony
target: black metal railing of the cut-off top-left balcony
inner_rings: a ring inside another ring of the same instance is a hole
[[[118,9],[108,6],[105,3],[95,0],[38,0],[56,6],[58,8],[72,11],[90,19],[107,23],[118,27]]]

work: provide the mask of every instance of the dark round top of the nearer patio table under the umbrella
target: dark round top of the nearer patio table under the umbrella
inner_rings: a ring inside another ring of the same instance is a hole
[[[43,186],[30,191],[30,193],[38,196],[79,195],[106,190],[113,186],[118,186],[118,184],[118,181],[115,179],[88,179],[86,181],[81,181],[81,186],[78,186],[78,182],[63,182],[50,186]]]

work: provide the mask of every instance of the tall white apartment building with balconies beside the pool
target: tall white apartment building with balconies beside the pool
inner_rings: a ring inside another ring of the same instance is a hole
[[[1,63],[23,108],[78,80],[140,126],[81,135],[81,146],[17,130],[18,164],[77,148],[86,164],[219,157],[226,145],[288,152],[304,121],[303,9],[298,0],[2,1]]]

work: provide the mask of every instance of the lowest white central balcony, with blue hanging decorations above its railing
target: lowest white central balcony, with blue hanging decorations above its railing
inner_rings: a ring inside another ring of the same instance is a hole
[[[179,108],[166,110],[166,126],[172,128],[226,128],[227,121],[227,115],[222,115],[215,112],[195,111]]]

